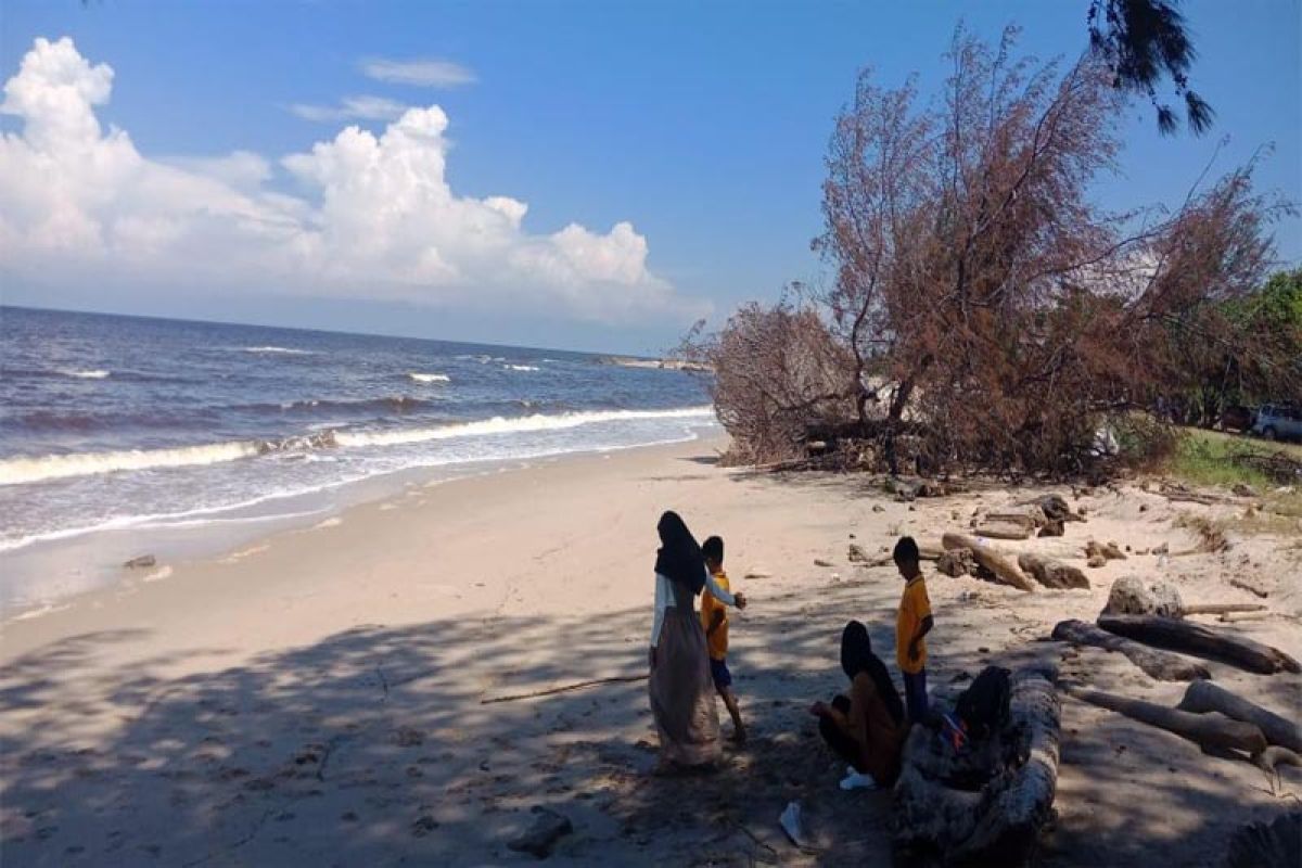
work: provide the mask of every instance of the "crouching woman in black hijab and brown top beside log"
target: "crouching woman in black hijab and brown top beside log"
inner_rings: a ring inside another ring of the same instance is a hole
[[[841,632],[841,669],[850,679],[850,695],[810,708],[828,747],[853,766],[841,787],[891,786],[900,776],[900,753],[909,729],[891,673],[872,653],[868,629],[858,621],[845,625]]]

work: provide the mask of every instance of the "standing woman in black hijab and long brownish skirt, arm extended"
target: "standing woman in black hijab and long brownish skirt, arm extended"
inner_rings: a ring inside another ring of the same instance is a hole
[[[719,712],[710,678],[706,634],[693,601],[700,590],[724,605],[745,608],[742,595],[719,587],[704,556],[677,513],[656,524],[655,619],[651,626],[651,713],[660,735],[663,766],[702,766],[719,760]]]

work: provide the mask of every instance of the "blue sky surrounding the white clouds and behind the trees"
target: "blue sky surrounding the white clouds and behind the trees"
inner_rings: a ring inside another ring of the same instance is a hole
[[[309,285],[285,290],[277,277],[263,285],[255,271],[238,268],[230,285],[220,275],[190,281],[184,271],[152,282],[100,284],[100,264],[48,278],[10,273],[4,298],[656,351],[702,312],[719,320],[741,301],[775,297],[789,280],[818,280],[822,267],[809,242],[820,228],[823,154],[861,66],[871,65],[889,85],[917,72],[923,94],[934,92],[960,20],[990,38],[1017,22],[1025,51],[1074,56],[1086,46],[1087,5],[3,0],[4,77],[14,75],[38,36],[70,36],[87,64],[113,70],[111,99],[96,105],[105,130],[129,133],[150,160],[246,151],[266,159],[268,190],[294,193],[281,157],[333,141],[349,122],[380,134],[388,121],[314,121],[292,107],[328,109],[372,96],[443,109],[441,177],[456,197],[529,206],[522,224],[501,229],[500,258],[529,251],[519,271],[495,272],[483,278],[492,289],[450,299],[417,290],[372,295],[358,278],[371,262],[363,259],[332,262],[335,284],[320,293]],[[1273,142],[1259,186],[1302,198],[1302,7],[1197,1],[1186,14],[1200,55],[1193,83],[1216,109],[1216,126],[1202,139],[1161,138],[1151,108],[1137,103],[1125,131],[1125,174],[1100,183],[1099,198],[1118,208],[1178,203],[1224,135],[1230,141],[1217,168]],[[363,69],[375,59],[450,61],[474,81],[376,81]],[[13,133],[21,120],[5,116],[0,129]],[[316,164],[299,174],[322,172]],[[630,233],[613,229],[621,221]],[[569,224],[581,233],[552,239]],[[1302,224],[1280,225],[1277,238],[1285,259],[1302,259]],[[611,258],[618,259],[611,275],[585,271]],[[487,273],[477,271],[488,268],[483,259],[467,262],[449,268],[469,282]],[[535,275],[546,280],[527,294],[506,286],[531,286]],[[575,301],[579,290],[565,281],[586,281],[589,295]],[[635,298],[620,301],[625,292]]]

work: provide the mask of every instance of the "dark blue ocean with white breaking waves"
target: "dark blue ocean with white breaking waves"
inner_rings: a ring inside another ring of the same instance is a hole
[[[715,426],[699,375],[586,353],[17,307],[0,307],[0,407],[4,609],[94,584],[12,578],[61,541],[315,517],[405,471]]]

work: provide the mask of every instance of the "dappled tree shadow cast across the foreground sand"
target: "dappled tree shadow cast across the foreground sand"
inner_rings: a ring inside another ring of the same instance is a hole
[[[900,586],[884,571],[867,575],[802,593],[747,588],[754,605],[734,619],[730,665],[751,744],[698,777],[648,774],[655,735],[644,682],[482,704],[642,673],[648,613],[641,609],[366,626],[181,678],[159,674],[177,658],[96,662],[108,645],[139,640],[138,631],[55,643],[0,670],[4,863],[531,861],[506,842],[544,806],[574,824],[553,861],[889,864],[889,794],[840,791],[842,766],[806,712],[842,687],[837,642],[848,618],[868,623],[891,660]],[[961,688],[1000,652],[1029,647],[1016,618],[1003,643],[965,631],[973,605],[937,605],[937,695]],[[1044,649],[1059,645],[1034,648]],[[1096,781],[1125,774],[1111,735],[1107,726],[1073,734],[1065,760]],[[1170,824],[1148,826],[1144,812],[1159,811],[1159,800],[1177,806],[1191,785],[1198,809],[1212,815],[1229,813],[1240,798],[1211,774],[1178,785],[1172,777],[1154,782],[1152,804],[1135,806],[1128,828],[1091,829],[1081,812],[1055,834],[1066,846],[1124,834],[1090,854],[1167,864]],[[1075,798],[1070,778],[1064,791]],[[805,811],[805,850],[777,825],[790,800]],[[1207,833],[1174,830],[1208,851]],[[1056,846],[1051,837],[1051,859]],[[1059,851],[1060,864],[1081,864],[1069,856]]]

